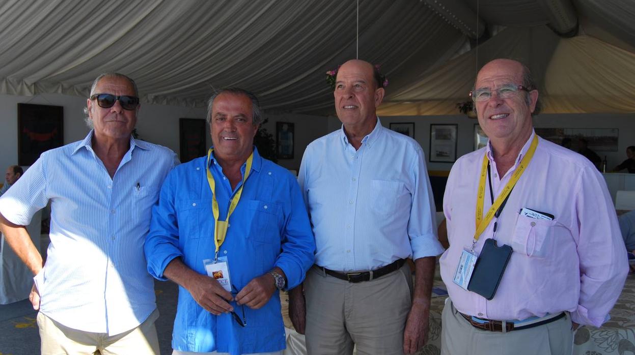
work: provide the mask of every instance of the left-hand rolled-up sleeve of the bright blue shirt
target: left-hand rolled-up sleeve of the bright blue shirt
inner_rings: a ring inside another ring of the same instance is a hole
[[[148,272],[158,280],[168,280],[163,271],[170,261],[182,257],[178,248],[178,221],[175,209],[177,174],[173,169],[161,186],[159,202],[152,207],[150,231],[145,237],[144,252]]]

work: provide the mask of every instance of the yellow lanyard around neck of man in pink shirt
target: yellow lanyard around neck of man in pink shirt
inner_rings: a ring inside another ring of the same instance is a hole
[[[516,183],[518,182],[518,179],[520,179],[521,175],[523,175],[523,172],[525,172],[527,165],[529,165],[531,158],[533,158],[533,153],[536,152],[537,146],[538,136],[534,134],[529,150],[527,150],[527,153],[525,153],[525,157],[523,157],[523,159],[520,161],[518,168],[516,169],[516,171],[514,171],[511,179],[509,179],[509,182],[505,185],[505,188],[503,188],[503,191],[500,193],[500,195],[498,195],[494,203],[491,205],[490,210],[487,211],[485,217],[483,217],[483,203],[485,203],[485,177],[487,175],[487,164],[489,161],[487,158],[487,154],[485,154],[485,156],[483,157],[483,165],[481,165],[481,179],[479,181],[478,196],[476,199],[476,231],[474,231],[474,242],[472,242],[472,250],[474,250],[474,245],[476,245],[476,242],[478,242],[479,236],[481,235],[481,233],[483,233],[483,231],[485,231],[485,228],[487,228],[488,224],[490,224],[491,219],[494,217],[494,214],[496,213],[500,205],[502,205],[505,198],[507,198],[507,195],[511,193],[512,188],[514,188],[514,185],[516,185]]]

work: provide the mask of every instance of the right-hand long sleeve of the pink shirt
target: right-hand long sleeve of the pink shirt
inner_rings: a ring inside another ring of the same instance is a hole
[[[591,169],[578,178],[578,257],[580,299],[571,318],[576,323],[601,326],[617,301],[629,267],[615,208],[602,176]]]

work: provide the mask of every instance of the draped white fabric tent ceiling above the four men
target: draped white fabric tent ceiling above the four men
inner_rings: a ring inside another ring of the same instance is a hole
[[[498,56],[528,63],[545,112],[635,112],[633,19],[632,0],[359,0],[359,58],[389,78],[380,114],[457,113]],[[86,97],[117,71],[150,103],[239,86],[269,112],[329,113],[325,72],[355,37],[355,0],[3,0],[0,93]]]

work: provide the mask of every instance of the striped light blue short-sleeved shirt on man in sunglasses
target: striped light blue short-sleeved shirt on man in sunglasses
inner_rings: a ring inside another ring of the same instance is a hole
[[[51,243],[35,278],[40,311],[70,328],[115,335],[156,308],[143,245],[151,207],[178,160],[168,148],[130,138],[111,179],[92,137],[42,153],[0,198],[0,213],[28,225],[51,202]]]

